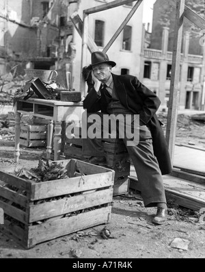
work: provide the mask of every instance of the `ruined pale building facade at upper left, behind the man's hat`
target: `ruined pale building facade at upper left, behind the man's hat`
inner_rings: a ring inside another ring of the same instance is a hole
[[[77,12],[113,0],[2,0],[0,3],[0,75],[14,63],[25,68],[55,69],[66,86],[66,72],[72,74],[72,88],[80,90],[82,39],[70,21]],[[102,49],[117,31],[134,3],[90,15],[89,34]],[[107,54],[117,62],[113,73],[140,73],[143,4],[139,6]],[[90,53],[87,65],[90,64]],[[62,82],[61,81],[61,82]]]

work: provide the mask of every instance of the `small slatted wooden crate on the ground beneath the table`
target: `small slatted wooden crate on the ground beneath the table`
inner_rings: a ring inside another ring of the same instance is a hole
[[[45,147],[47,125],[20,124],[20,145],[25,147]]]

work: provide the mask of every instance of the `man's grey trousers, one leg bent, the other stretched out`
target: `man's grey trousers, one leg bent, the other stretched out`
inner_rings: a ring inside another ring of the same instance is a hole
[[[94,116],[93,114],[96,114],[96,116],[99,116],[99,118],[96,118],[94,121],[96,131],[98,130],[98,135],[101,136],[103,134],[103,129],[108,129],[111,134],[113,134],[113,127],[105,127],[103,126],[103,117],[105,114],[101,112],[94,112],[87,114],[87,117],[84,116],[82,119],[82,130],[89,131],[90,127],[94,123],[87,123],[87,118],[90,116]],[[108,115],[108,114],[107,114]],[[125,120],[124,114],[124,120]],[[115,116],[118,116],[118,114],[115,114]],[[134,131],[134,114],[132,114],[132,122],[129,124],[126,124],[126,126],[131,126],[130,129]],[[100,122],[99,122],[100,121]],[[105,123],[105,122],[104,122]],[[122,123],[118,123],[117,129],[118,134],[120,138],[124,141],[124,144],[126,145],[126,149],[129,153],[129,156],[131,157],[131,160],[133,162],[133,165],[135,167],[135,171],[137,173],[137,179],[139,180],[139,184],[141,186],[141,196],[143,198],[144,205],[146,207],[152,207],[156,206],[156,203],[166,203],[165,198],[165,188],[163,185],[163,178],[161,175],[161,170],[159,169],[158,161],[156,160],[156,157],[154,156],[153,147],[152,147],[152,136],[150,133],[150,130],[146,125],[143,125],[140,123],[138,127],[139,132],[139,143],[134,142],[135,145],[128,145],[128,141],[130,143],[131,138],[124,133],[120,133],[120,125],[124,125]],[[122,128],[122,127],[121,127]],[[123,129],[122,129],[123,130]],[[125,129],[124,129],[125,130]],[[121,135],[120,135],[121,134]],[[97,157],[103,157],[105,156],[105,152],[102,147],[102,140],[100,138],[90,138],[89,135],[87,135],[87,138],[83,138],[83,156],[97,156]]]

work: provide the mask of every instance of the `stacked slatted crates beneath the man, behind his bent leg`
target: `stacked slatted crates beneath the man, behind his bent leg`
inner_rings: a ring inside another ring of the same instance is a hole
[[[107,164],[105,167],[115,171],[115,180],[113,186],[113,195],[123,195],[128,193],[131,162],[122,139],[106,138],[102,139],[105,158]],[[67,158],[77,158],[87,161],[89,157],[83,156],[81,127],[79,135],[73,135],[72,139],[65,139],[64,155]]]

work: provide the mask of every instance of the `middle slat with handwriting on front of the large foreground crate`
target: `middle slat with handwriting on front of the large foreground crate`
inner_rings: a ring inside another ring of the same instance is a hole
[[[112,198],[113,189],[109,188],[92,193],[87,192],[85,195],[65,197],[56,201],[36,204],[30,207],[29,223],[111,203]]]

